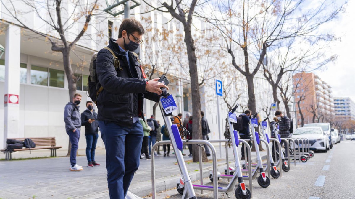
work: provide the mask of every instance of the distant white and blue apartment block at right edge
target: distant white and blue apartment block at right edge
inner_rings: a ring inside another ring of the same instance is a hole
[[[349,97],[334,97],[335,116],[355,120],[355,102]]]

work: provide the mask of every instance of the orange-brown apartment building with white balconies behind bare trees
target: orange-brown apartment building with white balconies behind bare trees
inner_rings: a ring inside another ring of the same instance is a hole
[[[330,122],[334,116],[332,88],[314,73],[297,73],[293,76],[297,124]]]

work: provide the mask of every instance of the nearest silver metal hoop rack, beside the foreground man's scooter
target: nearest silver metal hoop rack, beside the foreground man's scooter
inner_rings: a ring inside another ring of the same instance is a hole
[[[172,144],[171,141],[159,141],[156,142],[153,147],[152,147],[152,151],[155,151],[155,149],[163,144]],[[216,156],[216,150],[214,148],[214,146],[208,142],[207,140],[188,140],[187,142],[182,142],[182,144],[206,144],[212,152],[212,167],[213,167],[213,175],[217,176],[217,156]],[[172,144],[173,145],[173,144]],[[174,146],[174,145],[173,145]],[[173,147],[174,149],[174,147]],[[176,150],[174,149],[174,153],[176,154]],[[154,155],[152,155],[151,157],[151,175],[152,175],[152,198],[155,199],[156,198],[156,189],[155,189],[155,164],[154,164]],[[203,181],[202,181],[202,147],[200,147],[200,152],[199,152],[199,159],[200,159],[200,180],[201,180],[201,185],[203,185]],[[178,162],[179,164],[179,162]],[[180,165],[179,165],[180,168]],[[181,170],[181,169],[180,169]],[[187,197],[187,195],[183,196]],[[214,199],[218,199],[218,181],[214,181],[213,182],[213,198]]]

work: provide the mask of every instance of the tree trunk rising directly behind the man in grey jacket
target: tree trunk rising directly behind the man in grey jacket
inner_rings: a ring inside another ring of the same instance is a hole
[[[68,48],[62,51],[64,70],[68,80],[69,102],[71,102],[76,92],[76,77],[74,76],[73,70],[71,68],[69,53],[70,53],[70,49]],[[71,150],[71,143],[69,140],[67,156],[70,156],[70,150]],[[78,155],[78,152],[76,152],[76,155]]]

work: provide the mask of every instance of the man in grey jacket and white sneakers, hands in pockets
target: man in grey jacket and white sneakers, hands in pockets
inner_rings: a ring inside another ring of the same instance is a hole
[[[76,152],[78,150],[78,142],[80,138],[80,127],[81,127],[81,115],[79,111],[80,102],[81,102],[81,95],[76,93],[73,97],[73,101],[69,102],[64,108],[65,130],[69,135],[69,141],[71,143],[71,151],[70,151],[71,171],[83,170],[82,166],[76,164]]]

